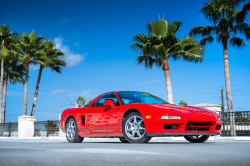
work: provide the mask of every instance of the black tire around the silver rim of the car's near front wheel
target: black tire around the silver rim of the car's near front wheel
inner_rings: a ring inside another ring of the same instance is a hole
[[[138,140],[133,140],[133,139],[129,138],[129,137],[127,136],[126,132],[125,132],[125,124],[126,124],[126,121],[127,121],[131,116],[134,116],[134,115],[141,116],[141,114],[138,113],[138,112],[131,112],[131,113],[128,114],[128,115],[125,117],[125,119],[122,121],[122,133],[123,133],[123,136],[124,136],[124,138],[125,138],[128,142],[130,142],[130,143],[147,143],[147,142],[151,139],[151,137],[149,137],[149,136],[147,135],[146,129],[145,129],[145,134],[143,135],[143,137],[140,138],[140,139],[138,139]],[[141,117],[142,117],[142,116],[141,116]],[[143,117],[142,117],[142,119],[143,119]]]

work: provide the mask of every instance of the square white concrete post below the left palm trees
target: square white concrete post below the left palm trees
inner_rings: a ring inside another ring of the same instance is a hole
[[[36,121],[35,116],[25,116],[25,115],[19,116],[18,137],[19,138],[34,137],[35,121]]]

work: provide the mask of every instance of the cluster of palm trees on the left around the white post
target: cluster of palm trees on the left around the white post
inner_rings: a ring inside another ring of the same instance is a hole
[[[64,53],[55,47],[53,41],[37,35],[34,30],[30,34],[24,32],[19,36],[18,33],[11,32],[8,25],[0,25],[0,49],[0,87],[4,86],[4,91],[0,88],[0,123],[5,122],[8,81],[12,84],[24,84],[23,115],[27,115],[29,67],[31,64],[40,65],[30,113],[31,116],[34,116],[42,71],[45,68],[50,68],[52,71],[61,73],[62,68],[66,66],[65,60],[62,59]]]

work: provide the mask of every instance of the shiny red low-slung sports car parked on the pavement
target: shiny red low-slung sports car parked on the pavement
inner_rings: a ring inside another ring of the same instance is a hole
[[[220,118],[213,111],[176,106],[149,93],[114,91],[101,94],[84,107],[64,110],[60,128],[70,143],[80,143],[84,137],[146,143],[163,136],[184,136],[192,143],[201,143],[220,134]]]

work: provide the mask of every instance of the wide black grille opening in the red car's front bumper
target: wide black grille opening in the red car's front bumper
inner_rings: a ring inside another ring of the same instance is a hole
[[[191,122],[188,121],[186,124],[187,131],[209,131],[209,122]]]

